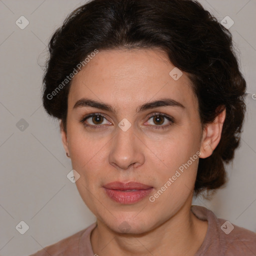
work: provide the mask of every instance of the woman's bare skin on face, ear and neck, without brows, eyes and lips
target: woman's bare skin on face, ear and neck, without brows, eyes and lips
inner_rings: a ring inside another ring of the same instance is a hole
[[[80,196],[97,218],[91,243],[100,256],[113,251],[116,255],[193,255],[205,237],[207,221],[190,211],[199,158],[153,202],[147,196],[133,204],[120,204],[102,187],[112,181],[136,181],[152,186],[153,195],[197,151],[205,158],[217,146],[225,110],[202,129],[190,80],[183,72],[175,81],[169,75],[173,68],[158,49],[99,50],[72,80],[62,142],[80,175],[76,181]],[[107,103],[115,112],[73,108],[83,97]],[[141,104],[166,97],[184,108],[160,106],[136,112]],[[103,128],[88,128],[80,122],[90,113],[106,118],[84,122]],[[151,113],[167,114],[173,123],[153,128],[170,121],[161,117],[164,122],[159,125]],[[131,124],[126,131],[118,127],[123,118]],[[122,223],[128,230],[120,231]]]

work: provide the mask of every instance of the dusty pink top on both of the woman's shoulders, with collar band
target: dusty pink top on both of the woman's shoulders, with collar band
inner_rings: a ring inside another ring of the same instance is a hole
[[[191,210],[208,221],[205,238],[194,256],[256,256],[256,233],[217,218],[205,207],[192,205]],[[95,226],[96,222],[29,256],[93,256],[90,233]]]

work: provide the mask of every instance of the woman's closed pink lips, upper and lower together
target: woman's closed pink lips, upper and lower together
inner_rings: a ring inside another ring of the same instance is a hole
[[[153,188],[137,182],[122,183],[117,181],[108,183],[103,187],[111,199],[122,204],[131,204],[142,200]]]

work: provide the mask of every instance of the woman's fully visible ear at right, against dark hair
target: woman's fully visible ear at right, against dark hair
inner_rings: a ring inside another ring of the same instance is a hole
[[[206,158],[210,156],[213,150],[218,145],[221,138],[221,132],[223,123],[226,116],[226,109],[224,108],[214,119],[213,122],[207,123],[204,126],[201,146],[200,146],[200,158]]]

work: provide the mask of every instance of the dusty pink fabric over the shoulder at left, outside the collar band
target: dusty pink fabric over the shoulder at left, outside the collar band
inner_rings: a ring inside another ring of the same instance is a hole
[[[90,233],[91,229],[95,226],[95,223],[92,223],[88,227],[80,230],[77,233],[74,233],[54,244],[48,245],[34,254],[29,256],[73,256],[78,255],[79,253],[79,242],[81,236],[84,234]]]

